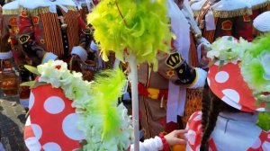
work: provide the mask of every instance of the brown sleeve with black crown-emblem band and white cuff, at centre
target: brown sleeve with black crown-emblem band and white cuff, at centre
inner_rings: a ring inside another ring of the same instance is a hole
[[[175,84],[186,85],[190,88],[203,87],[207,73],[197,67],[190,67],[182,56],[174,51],[169,54],[159,53],[158,73]]]

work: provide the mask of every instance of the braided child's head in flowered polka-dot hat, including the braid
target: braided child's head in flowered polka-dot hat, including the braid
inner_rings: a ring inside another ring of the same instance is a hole
[[[222,37],[212,44],[208,84],[202,99],[201,150],[208,149],[218,115],[222,112],[270,111],[270,33],[253,43]]]

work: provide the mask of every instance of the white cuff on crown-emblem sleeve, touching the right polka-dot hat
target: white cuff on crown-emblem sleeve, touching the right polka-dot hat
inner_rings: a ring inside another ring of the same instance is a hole
[[[195,71],[196,71],[196,78],[193,81],[193,84],[188,86],[188,88],[191,89],[203,87],[207,76],[207,72],[202,70],[202,68],[195,67]]]

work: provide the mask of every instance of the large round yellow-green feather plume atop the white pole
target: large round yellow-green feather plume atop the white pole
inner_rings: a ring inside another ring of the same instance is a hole
[[[167,52],[170,46],[166,0],[103,0],[87,21],[105,61],[111,50],[123,61],[127,49],[138,63],[148,61],[157,70],[157,50]]]

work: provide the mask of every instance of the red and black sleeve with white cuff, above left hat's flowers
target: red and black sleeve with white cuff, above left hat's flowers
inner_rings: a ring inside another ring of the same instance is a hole
[[[19,41],[23,46],[23,52],[31,58],[34,65],[44,63],[44,60],[56,59],[56,55],[52,55],[45,49],[42,49],[35,41],[35,32],[31,19],[31,13],[26,9],[22,9],[19,14]]]

